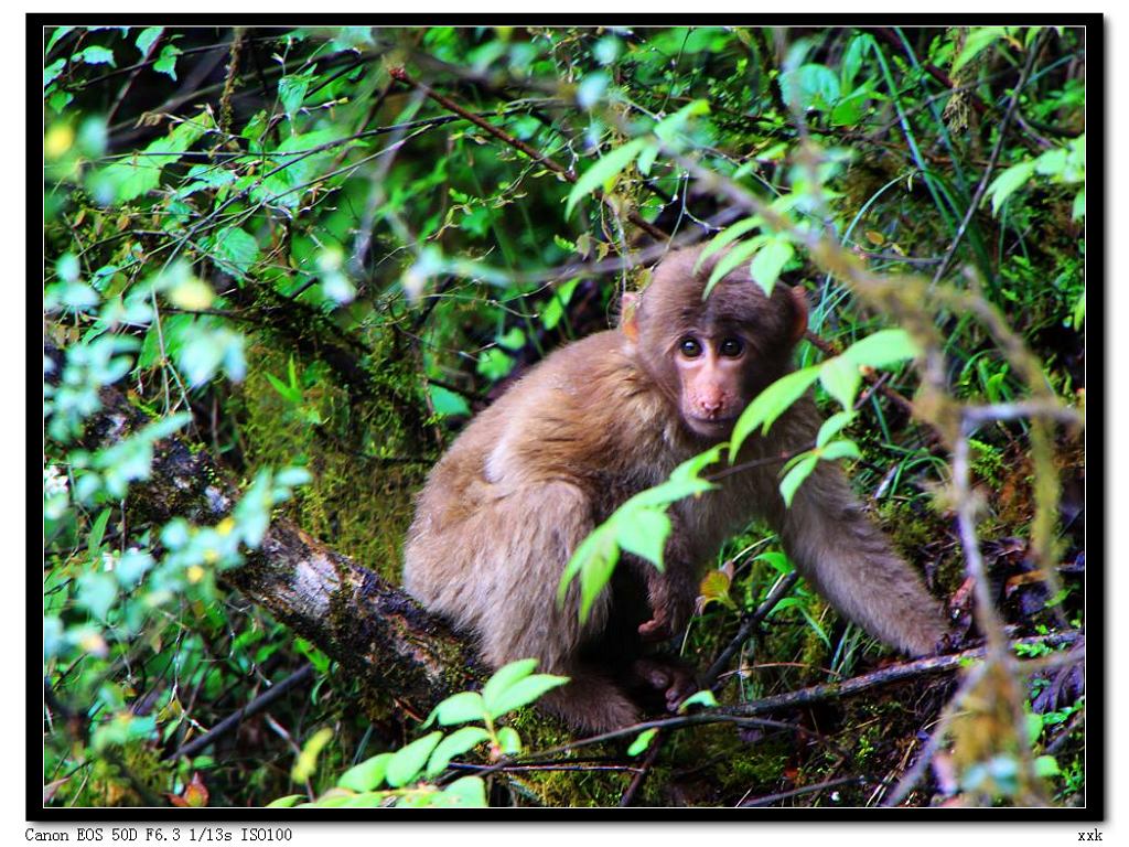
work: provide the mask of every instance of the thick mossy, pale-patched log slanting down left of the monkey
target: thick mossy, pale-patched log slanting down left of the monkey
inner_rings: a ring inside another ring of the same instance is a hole
[[[84,439],[89,448],[149,422],[117,388],[103,390],[100,399]],[[237,499],[235,484],[207,451],[172,436],[157,442],[152,472],[130,489],[126,509],[157,524],[183,515],[213,525]],[[471,646],[443,621],[286,517],[275,517],[261,547],[222,579],[336,660],[382,707],[423,717],[453,691],[484,679]]]

